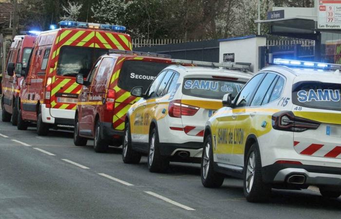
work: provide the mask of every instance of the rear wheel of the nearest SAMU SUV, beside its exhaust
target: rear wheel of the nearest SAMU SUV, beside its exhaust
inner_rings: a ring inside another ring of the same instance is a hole
[[[250,169],[252,169],[253,166],[253,171],[248,171],[248,165],[250,165]],[[254,143],[247,153],[244,164],[243,188],[246,200],[249,202],[267,201],[270,198],[271,186],[263,182],[261,168],[262,162],[259,147],[256,143]],[[250,174],[248,175],[248,173]],[[247,183],[247,175],[250,176],[250,180],[252,180],[253,177],[253,183]],[[251,184],[251,186],[247,186],[248,184]]]

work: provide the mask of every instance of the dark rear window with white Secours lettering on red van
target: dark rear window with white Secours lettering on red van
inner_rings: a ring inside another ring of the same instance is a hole
[[[131,91],[133,87],[142,86],[145,91],[157,74],[169,65],[164,62],[124,61],[118,78],[118,87]]]

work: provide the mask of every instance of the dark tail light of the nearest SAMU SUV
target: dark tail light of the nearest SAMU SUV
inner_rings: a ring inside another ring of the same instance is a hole
[[[317,129],[321,123],[297,117],[292,111],[280,111],[272,115],[272,127],[277,130],[302,132]]]

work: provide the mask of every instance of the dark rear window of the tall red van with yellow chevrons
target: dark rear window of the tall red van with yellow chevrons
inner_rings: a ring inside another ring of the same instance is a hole
[[[59,53],[57,75],[75,77],[78,73],[81,73],[86,77],[96,59],[107,52],[108,49],[63,46]]]

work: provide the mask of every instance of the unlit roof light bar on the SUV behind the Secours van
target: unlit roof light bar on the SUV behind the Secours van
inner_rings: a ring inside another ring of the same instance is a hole
[[[238,62],[224,62],[224,63],[217,63],[217,62],[205,62],[205,61],[194,61],[194,60],[184,60],[184,59],[172,59],[174,63],[179,64],[193,64],[195,66],[206,66],[212,68],[227,68],[231,70],[240,70],[243,72],[247,72],[250,70],[251,63],[238,63]]]

